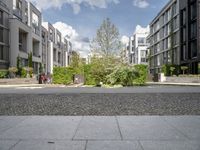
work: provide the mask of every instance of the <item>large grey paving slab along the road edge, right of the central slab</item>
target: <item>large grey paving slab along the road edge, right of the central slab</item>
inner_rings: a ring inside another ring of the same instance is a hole
[[[177,140],[186,137],[158,116],[117,117],[123,139],[127,140]]]

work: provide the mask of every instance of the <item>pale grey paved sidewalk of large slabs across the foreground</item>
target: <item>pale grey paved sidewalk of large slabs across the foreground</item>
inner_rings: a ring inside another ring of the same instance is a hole
[[[199,150],[200,116],[0,117],[1,150]]]

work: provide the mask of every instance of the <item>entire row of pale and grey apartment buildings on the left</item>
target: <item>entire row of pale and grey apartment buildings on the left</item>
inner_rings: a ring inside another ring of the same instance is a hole
[[[51,24],[42,26],[42,14],[32,3],[1,0],[0,17],[0,69],[16,67],[17,57],[28,66],[30,53],[35,74],[40,64],[46,73],[54,66],[69,65],[72,44]]]

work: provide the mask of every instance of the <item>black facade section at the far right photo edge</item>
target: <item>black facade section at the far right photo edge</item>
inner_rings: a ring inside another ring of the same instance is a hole
[[[200,0],[180,2],[180,64],[200,74]]]

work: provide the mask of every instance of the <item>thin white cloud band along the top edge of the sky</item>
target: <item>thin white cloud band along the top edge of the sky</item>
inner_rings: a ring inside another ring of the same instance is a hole
[[[90,8],[107,8],[109,3],[118,4],[119,0],[29,0],[33,2],[39,9],[58,8],[64,4],[69,4],[73,8],[74,14],[78,14],[81,10],[80,5],[84,4]]]

